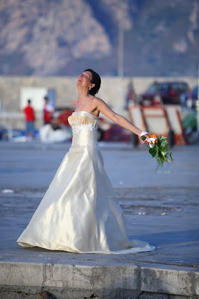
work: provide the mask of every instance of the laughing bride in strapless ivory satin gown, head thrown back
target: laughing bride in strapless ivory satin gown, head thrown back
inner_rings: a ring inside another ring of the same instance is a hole
[[[142,131],[95,96],[100,84],[100,76],[92,69],[78,77],[79,101],[68,118],[73,129],[72,145],[16,241],[23,247],[103,254],[156,249],[147,242],[128,239],[124,216],[98,146],[99,114],[138,136]],[[150,138],[149,134],[144,136]]]

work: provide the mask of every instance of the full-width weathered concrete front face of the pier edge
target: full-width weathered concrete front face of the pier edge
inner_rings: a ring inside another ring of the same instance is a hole
[[[139,291],[180,296],[199,295],[199,269],[172,265],[83,265],[0,262],[0,287],[60,288],[92,293]]]

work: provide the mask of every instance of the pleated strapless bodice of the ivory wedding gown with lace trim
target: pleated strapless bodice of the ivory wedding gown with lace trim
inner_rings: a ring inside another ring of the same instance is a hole
[[[97,132],[99,118],[87,111],[75,111],[68,118],[73,134],[82,132]]]

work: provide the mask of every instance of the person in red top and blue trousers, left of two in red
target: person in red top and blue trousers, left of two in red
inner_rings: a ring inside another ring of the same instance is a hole
[[[31,101],[27,101],[27,106],[23,109],[25,115],[25,136],[26,140],[32,140],[34,138],[34,122],[35,122],[35,113],[34,109],[31,106]]]

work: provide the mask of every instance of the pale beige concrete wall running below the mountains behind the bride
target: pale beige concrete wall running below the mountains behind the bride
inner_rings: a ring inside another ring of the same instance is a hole
[[[0,77],[0,125],[5,127],[24,127],[23,114],[20,110],[20,90],[22,87],[45,87],[56,90],[56,107],[73,107],[77,99],[76,77]],[[123,110],[128,83],[133,83],[135,92],[141,94],[154,80],[186,81],[190,87],[198,84],[197,77],[102,77],[98,96],[115,112],[126,117]],[[43,101],[43,99],[41,99]],[[40,127],[41,114],[37,116],[36,127]]]

